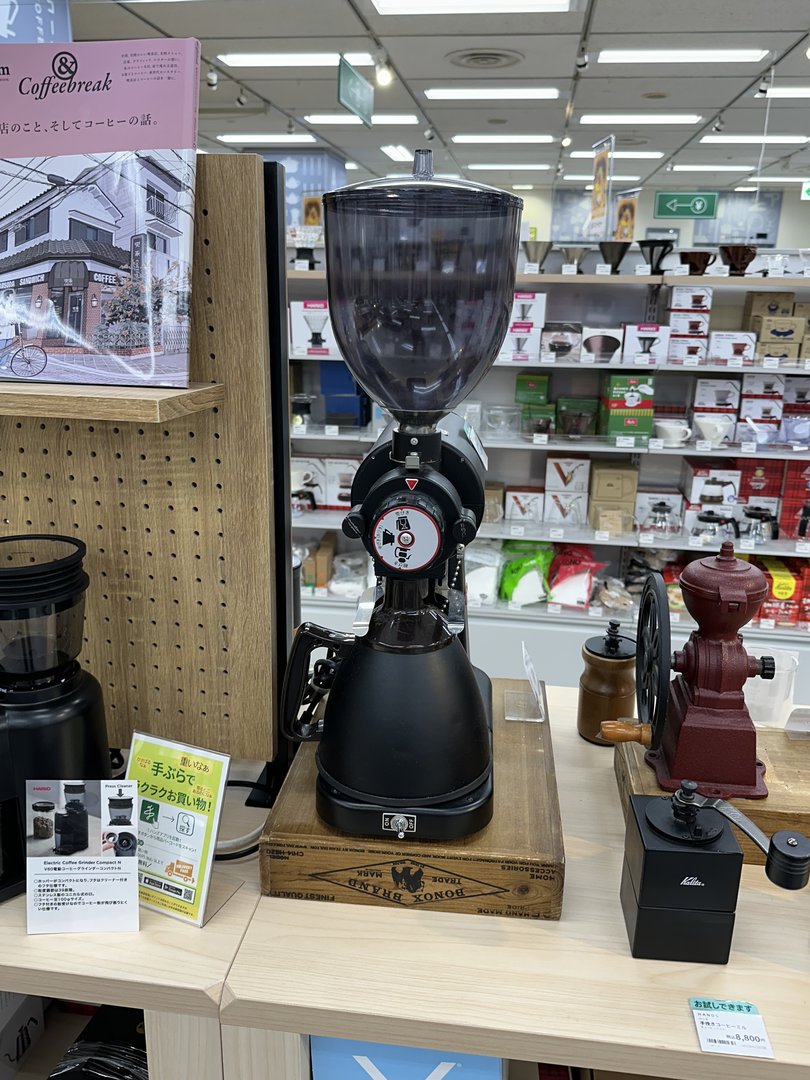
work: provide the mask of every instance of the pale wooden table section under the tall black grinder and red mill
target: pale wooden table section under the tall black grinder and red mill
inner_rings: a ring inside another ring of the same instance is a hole
[[[727,967],[634,960],[613,754],[546,688],[566,850],[559,922],[262,897],[222,994],[226,1076],[307,1080],[307,1034],[692,1080],[807,1080],[810,896],[745,866]],[[747,999],[777,1059],[704,1055],[689,998]]]

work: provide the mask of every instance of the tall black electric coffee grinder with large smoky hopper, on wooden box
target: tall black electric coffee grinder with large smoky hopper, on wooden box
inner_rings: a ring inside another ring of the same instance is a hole
[[[324,195],[335,338],[396,420],[357,470],[343,521],[374,561],[368,630],[305,623],[282,691],[286,733],[320,735],[318,812],[346,833],[449,839],[491,818],[491,687],[468,656],[463,582],[486,458],[450,410],[505,337],[521,207],[494,188],[434,178],[429,150],[417,150],[413,178]],[[456,255],[438,259],[440,248]],[[327,657],[310,678],[318,648]]]

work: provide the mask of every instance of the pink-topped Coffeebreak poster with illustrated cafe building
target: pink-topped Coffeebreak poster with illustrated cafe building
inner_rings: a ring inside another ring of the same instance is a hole
[[[188,384],[197,93],[195,41],[0,45],[0,379]]]

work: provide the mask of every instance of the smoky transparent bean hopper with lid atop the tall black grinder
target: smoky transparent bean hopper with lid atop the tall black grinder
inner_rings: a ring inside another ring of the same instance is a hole
[[[434,426],[475,387],[509,327],[521,208],[496,188],[434,177],[324,195],[329,313],[370,396],[409,426]]]

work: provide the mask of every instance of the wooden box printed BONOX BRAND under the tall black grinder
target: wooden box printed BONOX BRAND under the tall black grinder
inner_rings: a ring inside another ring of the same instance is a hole
[[[336,832],[315,813],[315,747],[301,746],[261,838],[262,893],[558,919],[565,855],[550,725],[504,717],[504,689],[524,688],[505,679],[492,685],[495,812],[462,840]]]

